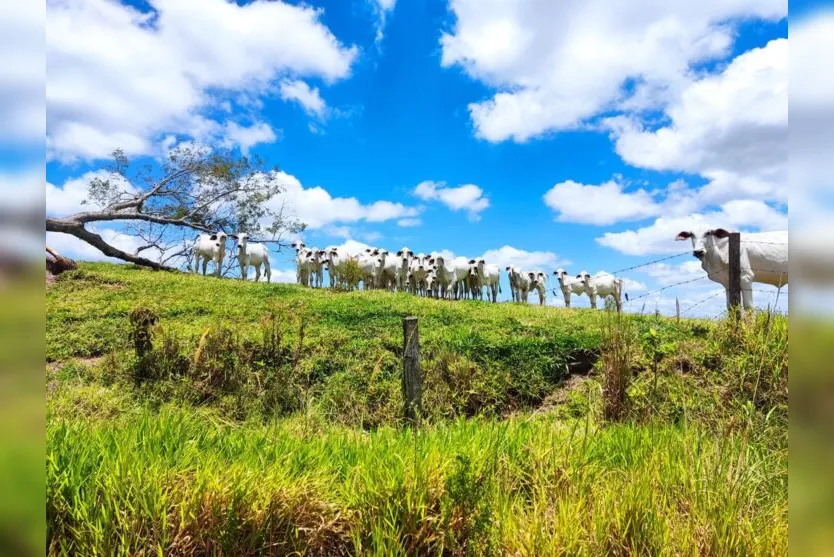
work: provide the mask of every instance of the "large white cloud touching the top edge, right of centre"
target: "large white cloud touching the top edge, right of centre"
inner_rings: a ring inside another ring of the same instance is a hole
[[[451,0],[450,8],[441,64],[496,90],[469,105],[476,135],[521,142],[611,109],[662,106],[694,65],[726,56],[738,21],[781,19],[788,3]]]

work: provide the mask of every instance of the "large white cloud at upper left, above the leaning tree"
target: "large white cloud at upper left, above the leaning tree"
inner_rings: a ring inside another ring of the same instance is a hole
[[[223,141],[215,134],[226,128],[211,119],[211,110],[230,98],[249,98],[248,108],[256,109],[258,97],[287,75],[343,79],[358,54],[322,24],[320,9],[306,5],[150,4],[153,11],[141,12],[108,0],[50,3],[50,157],[96,159],[117,147],[148,154],[166,132]],[[221,112],[218,117],[229,118]],[[266,137],[262,126],[255,130]]]

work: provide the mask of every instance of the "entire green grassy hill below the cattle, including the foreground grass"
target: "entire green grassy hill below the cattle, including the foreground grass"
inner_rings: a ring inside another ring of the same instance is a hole
[[[406,315],[417,431],[400,422]],[[787,552],[780,316],[83,264],[47,291],[46,323],[52,553]]]

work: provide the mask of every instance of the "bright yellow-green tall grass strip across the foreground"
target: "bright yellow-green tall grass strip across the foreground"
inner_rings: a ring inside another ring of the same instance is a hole
[[[785,553],[786,455],[547,417],[361,433],[165,407],[47,428],[52,554]]]

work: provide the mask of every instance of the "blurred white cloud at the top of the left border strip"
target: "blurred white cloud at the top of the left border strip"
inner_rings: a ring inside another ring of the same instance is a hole
[[[46,129],[42,2],[4,2],[0,17],[0,143],[43,141]]]

